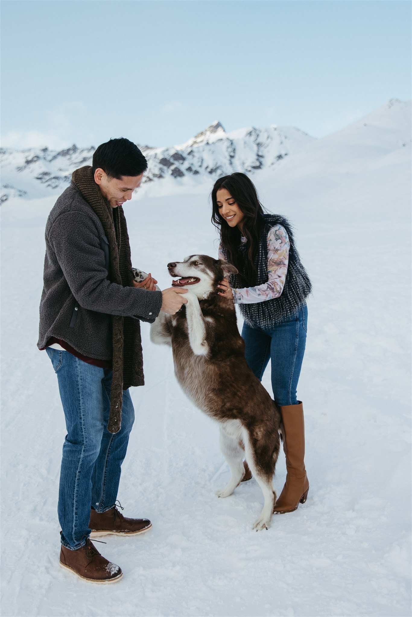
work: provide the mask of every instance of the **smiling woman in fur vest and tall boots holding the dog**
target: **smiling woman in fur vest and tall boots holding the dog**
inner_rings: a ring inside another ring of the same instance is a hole
[[[238,270],[219,284],[219,295],[239,305],[245,323],[246,361],[261,381],[271,360],[274,400],[282,415],[287,477],[275,513],[306,501],[303,407],[296,387],[305,353],[311,283],[300,262],[287,219],[265,214],[244,173],[219,178],[212,190],[212,223],[221,234],[219,259]],[[250,471],[245,463],[245,479]]]

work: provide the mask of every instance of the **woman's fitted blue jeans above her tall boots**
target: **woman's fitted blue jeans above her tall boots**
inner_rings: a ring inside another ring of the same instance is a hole
[[[269,360],[272,368],[272,390],[278,405],[296,405],[296,388],[305,354],[308,308],[300,307],[296,317],[272,328],[251,328],[243,324],[246,362],[262,381]]]

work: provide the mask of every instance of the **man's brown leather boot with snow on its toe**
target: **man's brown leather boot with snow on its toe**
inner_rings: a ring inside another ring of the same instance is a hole
[[[77,550],[66,549],[61,545],[60,565],[88,582],[116,582],[123,576],[119,566],[107,561],[90,542],[90,538]]]

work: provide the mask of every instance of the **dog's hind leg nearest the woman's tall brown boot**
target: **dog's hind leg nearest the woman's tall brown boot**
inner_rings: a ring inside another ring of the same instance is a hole
[[[272,484],[272,477],[274,474],[274,462],[271,462],[272,452],[267,452],[268,460],[264,462],[266,465],[262,465],[263,461],[259,461],[259,458],[262,457],[263,453],[259,452],[258,454],[256,452],[256,449],[251,443],[247,429],[243,429],[243,443],[245,444],[246,461],[248,462],[253,477],[261,487],[264,497],[263,510],[259,518],[254,521],[252,529],[256,529],[256,531],[260,529],[269,529],[276,502],[276,494]],[[269,458],[271,460],[269,460]],[[272,473],[268,473],[267,466],[269,466],[269,470],[271,470]]]

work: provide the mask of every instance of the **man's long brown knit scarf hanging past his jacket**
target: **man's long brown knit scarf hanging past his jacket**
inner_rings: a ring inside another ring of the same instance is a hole
[[[72,173],[72,180],[96,213],[109,241],[109,281],[123,287],[133,286],[130,244],[126,219],[121,206],[112,209],[95,183],[90,165]],[[116,226],[116,230],[115,230]],[[116,238],[117,236],[117,238]],[[112,387],[107,430],[117,433],[122,420],[123,391],[130,386],[143,386],[143,354],[140,321],[132,317],[112,315]]]

